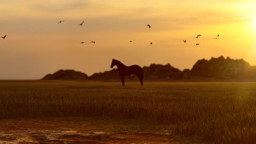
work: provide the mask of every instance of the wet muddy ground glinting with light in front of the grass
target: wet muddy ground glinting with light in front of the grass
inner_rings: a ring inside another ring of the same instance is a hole
[[[136,122],[92,118],[0,120],[0,144],[191,144]]]

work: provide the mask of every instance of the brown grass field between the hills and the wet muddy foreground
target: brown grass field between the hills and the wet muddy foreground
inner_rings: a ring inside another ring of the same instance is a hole
[[[97,117],[210,142],[256,141],[253,82],[1,81],[0,118]]]

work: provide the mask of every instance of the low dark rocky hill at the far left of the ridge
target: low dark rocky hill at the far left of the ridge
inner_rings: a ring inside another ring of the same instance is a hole
[[[60,69],[54,74],[46,75],[42,80],[88,80],[88,76],[82,72]]]

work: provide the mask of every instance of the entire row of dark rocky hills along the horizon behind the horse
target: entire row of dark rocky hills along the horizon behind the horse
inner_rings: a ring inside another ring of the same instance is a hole
[[[151,64],[144,66],[145,81],[200,81],[200,80],[256,80],[256,66],[249,65],[243,59],[226,59],[223,56],[211,58],[210,60],[200,59],[193,68],[183,71],[167,65]],[[47,80],[92,80],[92,81],[120,81],[118,69],[94,73],[87,76],[82,72],[74,70],[59,70],[54,74],[48,74],[43,79]],[[125,77],[126,80],[137,81],[135,75]]]

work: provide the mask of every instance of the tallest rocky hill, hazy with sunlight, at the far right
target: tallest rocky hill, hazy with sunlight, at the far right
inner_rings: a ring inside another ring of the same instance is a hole
[[[196,62],[188,75],[216,79],[246,79],[256,76],[256,67],[250,66],[243,59],[226,59],[223,56],[201,59]]]

